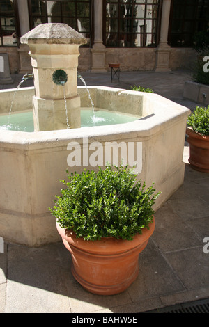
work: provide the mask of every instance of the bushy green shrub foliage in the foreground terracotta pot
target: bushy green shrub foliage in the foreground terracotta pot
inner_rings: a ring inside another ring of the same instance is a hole
[[[84,170],[68,173],[68,182],[56,196],[49,211],[62,228],[73,230],[77,237],[94,241],[101,237],[132,239],[153,221],[153,205],[159,193],[153,185],[137,182],[137,174],[127,166],[111,167],[98,172]],[[153,183],[154,184],[154,183]]]

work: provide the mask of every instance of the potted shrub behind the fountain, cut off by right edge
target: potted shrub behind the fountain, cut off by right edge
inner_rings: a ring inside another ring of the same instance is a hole
[[[189,163],[192,168],[209,173],[209,106],[196,106],[187,125]]]

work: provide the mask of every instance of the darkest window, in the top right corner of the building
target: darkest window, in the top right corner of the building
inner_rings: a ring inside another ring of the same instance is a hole
[[[171,47],[193,47],[194,35],[209,30],[209,0],[172,0],[169,27]]]

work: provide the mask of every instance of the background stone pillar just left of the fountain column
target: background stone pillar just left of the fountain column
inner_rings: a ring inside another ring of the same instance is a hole
[[[30,31],[29,25],[29,10],[27,0],[18,0],[18,15],[20,19],[20,34],[21,36]],[[31,57],[29,56],[29,46],[20,45],[17,50],[20,58],[20,74],[32,72]]]

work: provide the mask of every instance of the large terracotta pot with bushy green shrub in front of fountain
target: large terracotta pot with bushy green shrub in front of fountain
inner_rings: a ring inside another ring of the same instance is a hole
[[[72,274],[89,292],[123,292],[137,278],[138,258],[155,229],[153,205],[160,194],[137,182],[133,170],[68,173],[56,196],[56,228],[72,255]]]

